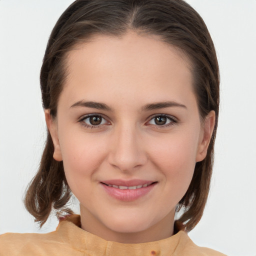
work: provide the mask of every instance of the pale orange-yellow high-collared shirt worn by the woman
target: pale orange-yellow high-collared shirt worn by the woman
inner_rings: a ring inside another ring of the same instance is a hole
[[[145,243],[106,241],[78,226],[79,215],[59,222],[50,233],[6,233],[0,235],[0,256],[73,255],[73,256],[224,256],[195,245],[187,233],[178,231],[169,238]]]

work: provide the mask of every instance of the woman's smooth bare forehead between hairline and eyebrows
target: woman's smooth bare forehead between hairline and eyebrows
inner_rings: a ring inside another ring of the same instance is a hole
[[[151,101],[156,94],[157,100],[175,100],[170,97],[192,91],[189,61],[155,35],[97,35],[75,45],[66,64],[63,90],[69,91],[69,98],[84,95],[102,101],[112,93],[141,100],[142,93]]]

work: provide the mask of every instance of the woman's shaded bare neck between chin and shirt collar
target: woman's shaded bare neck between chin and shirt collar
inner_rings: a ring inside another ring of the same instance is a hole
[[[120,243],[143,243],[157,241],[173,234],[174,212],[170,212],[156,224],[145,230],[125,232],[113,230],[95,218],[87,209],[80,208],[81,228],[105,240]]]

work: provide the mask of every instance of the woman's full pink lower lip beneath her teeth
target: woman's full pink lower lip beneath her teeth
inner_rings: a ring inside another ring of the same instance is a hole
[[[121,201],[134,201],[139,197],[142,197],[149,193],[156,185],[156,183],[153,183],[146,187],[140,187],[136,189],[120,189],[105,185],[103,183],[100,184],[110,196]]]

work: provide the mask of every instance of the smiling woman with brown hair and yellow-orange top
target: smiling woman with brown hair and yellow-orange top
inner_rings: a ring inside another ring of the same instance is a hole
[[[42,225],[52,207],[72,214],[72,191],[81,215],[2,235],[3,253],[221,255],[186,234],[208,194],[219,101],[214,46],[188,4],[75,1],[40,82],[48,137],[25,205]]]

